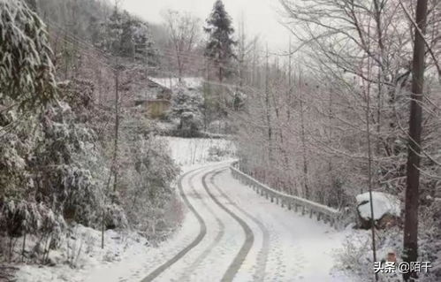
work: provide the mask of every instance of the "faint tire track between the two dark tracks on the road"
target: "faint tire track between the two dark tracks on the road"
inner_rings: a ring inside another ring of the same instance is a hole
[[[207,172],[205,175],[209,174],[211,171]],[[193,185],[193,179],[197,174],[194,174],[189,180],[189,185],[192,188],[194,194],[197,195],[197,197],[201,198],[201,195],[198,194],[196,192],[196,190],[194,189],[194,185]],[[205,176],[204,175],[204,176]],[[224,237],[224,232],[225,232],[225,225],[224,223],[220,220],[219,217],[217,217],[216,213],[211,210],[211,208],[209,208],[209,204],[207,202],[205,202],[202,198],[201,198],[201,203],[205,206],[205,208],[207,208],[207,210],[209,210],[209,213],[216,218],[216,222],[217,222],[217,226],[219,226],[219,231],[217,232],[217,235],[215,237],[215,239],[211,242],[211,244],[209,244],[209,246],[207,248],[205,248],[205,250],[201,253],[201,255],[199,255],[192,264],[188,265],[186,267],[186,269],[183,271],[182,275],[180,276],[180,278],[178,279],[178,281],[188,281],[190,278],[190,275],[194,272],[194,270],[196,269],[196,267],[201,264],[201,262],[207,258],[207,256],[209,255],[209,253],[217,246],[217,244],[220,242],[220,240],[222,239],[222,237]]]

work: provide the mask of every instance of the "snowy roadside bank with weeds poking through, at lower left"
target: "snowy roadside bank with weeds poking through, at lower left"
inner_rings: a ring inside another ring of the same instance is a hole
[[[75,225],[61,248],[51,250],[53,266],[22,264],[16,273],[17,281],[85,281],[95,269],[121,261],[135,263],[131,257],[148,252],[148,241],[136,232],[101,232],[83,225]],[[141,264],[141,262],[137,263]]]

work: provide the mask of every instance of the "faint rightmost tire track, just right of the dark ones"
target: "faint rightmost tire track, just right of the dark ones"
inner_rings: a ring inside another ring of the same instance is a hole
[[[259,227],[259,229],[262,231],[262,248],[259,251],[259,255],[257,257],[258,265],[256,265],[256,271],[255,271],[255,274],[253,277],[255,278],[254,281],[263,281],[265,278],[265,270],[266,270],[266,264],[267,264],[267,260],[268,260],[268,254],[270,253],[270,232],[265,227],[265,225],[262,224],[262,222],[259,219],[252,216],[246,210],[243,210],[242,208],[240,208],[236,202],[232,201],[232,199],[230,197],[228,197],[228,195],[224,194],[222,189],[217,186],[214,179],[217,177],[218,174],[222,173],[225,170],[227,170],[227,169],[222,169],[220,171],[213,173],[213,175],[209,179],[210,183],[211,183],[211,185],[213,185],[213,187],[215,187],[217,189],[217,191],[220,194],[222,194],[224,196],[225,199],[227,199],[229,202],[231,202],[232,205],[237,210],[240,210],[240,212],[243,213],[246,217],[250,218],[255,223],[255,225],[257,225]]]

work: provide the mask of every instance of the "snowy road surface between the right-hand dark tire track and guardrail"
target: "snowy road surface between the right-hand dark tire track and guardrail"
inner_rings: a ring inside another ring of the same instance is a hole
[[[249,274],[255,280],[269,281],[351,281],[331,274],[334,249],[340,247],[345,232],[271,203],[233,179],[228,170],[211,181],[219,197],[224,196],[225,204],[247,221],[255,234],[257,256],[247,257],[245,265],[249,267],[241,268],[236,281],[250,281]]]

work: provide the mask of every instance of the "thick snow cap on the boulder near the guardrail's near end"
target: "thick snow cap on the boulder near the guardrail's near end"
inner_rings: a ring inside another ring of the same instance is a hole
[[[372,192],[372,199],[374,204],[374,219],[378,220],[386,214],[399,217],[400,202],[393,194],[386,194],[383,192]],[[370,199],[369,192],[358,194],[356,196],[358,211],[363,219],[370,219]]]

